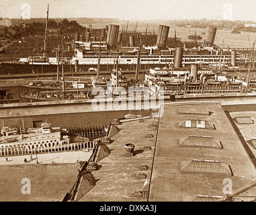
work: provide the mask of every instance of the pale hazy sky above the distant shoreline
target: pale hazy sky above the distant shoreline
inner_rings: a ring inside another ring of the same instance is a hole
[[[256,22],[255,0],[0,0],[9,18],[229,19]]]

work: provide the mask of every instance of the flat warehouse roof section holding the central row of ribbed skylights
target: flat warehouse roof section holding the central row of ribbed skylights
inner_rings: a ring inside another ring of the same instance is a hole
[[[193,112],[181,113],[181,108]],[[195,116],[197,108],[211,114]],[[169,103],[161,112],[149,201],[215,201],[225,196],[224,179],[231,179],[236,190],[256,177],[220,103]],[[191,119],[210,122],[214,130],[179,126]]]

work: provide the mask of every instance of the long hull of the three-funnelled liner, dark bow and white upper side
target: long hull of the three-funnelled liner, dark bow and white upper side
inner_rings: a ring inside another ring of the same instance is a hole
[[[223,61],[226,64],[231,64],[230,55],[222,55]],[[140,58],[140,70],[150,68],[163,68],[173,65],[175,56],[173,55],[159,55],[159,56],[142,56]],[[237,64],[245,64],[246,59],[243,56],[237,56]],[[88,72],[89,69],[97,69],[97,57],[91,56],[88,58],[79,58],[78,64],[64,64],[64,72]],[[137,58],[136,56],[120,56],[118,58],[118,69],[122,70],[135,70]],[[219,55],[183,55],[182,64],[204,64],[212,65],[220,63]],[[102,56],[100,71],[112,71],[116,68],[115,59],[112,56]],[[37,63],[37,64],[19,64],[11,62],[2,62],[0,67],[0,75],[19,75],[19,74],[37,74],[37,73],[56,73],[57,64]],[[62,66],[59,65],[61,73]],[[93,70],[92,70],[93,71]]]

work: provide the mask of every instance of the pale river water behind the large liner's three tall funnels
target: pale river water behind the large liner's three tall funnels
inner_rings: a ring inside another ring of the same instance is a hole
[[[127,21],[122,22],[116,22],[112,23],[114,25],[120,26],[120,30],[124,28],[126,30]],[[141,21],[138,22],[137,31],[138,32],[145,32],[146,25],[148,24],[148,30],[147,32],[155,32],[157,34],[157,30],[159,28],[159,25],[163,26],[169,26],[169,37],[174,37],[175,30],[177,38],[181,38],[182,41],[189,41],[187,36],[190,34],[200,34],[202,36],[202,41],[204,40],[205,34],[202,34],[202,32],[206,32],[206,29],[204,28],[184,28],[184,27],[178,27],[171,24],[171,21]],[[93,28],[105,28],[106,24],[93,24]],[[108,25],[108,24],[107,24]],[[87,28],[89,28],[89,24],[83,25]],[[136,26],[136,22],[129,22],[128,24],[128,31],[133,31]],[[253,42],[256,40],[256,32],[241,32],[241,34],[232,34],[231,30],[217,30],[216,38],[214,44],[217,46],[221,46],[223,44],[224,39],[224,47],[232,47],[232,48],[249,48],[249,40],[251,43],[251,46]]]

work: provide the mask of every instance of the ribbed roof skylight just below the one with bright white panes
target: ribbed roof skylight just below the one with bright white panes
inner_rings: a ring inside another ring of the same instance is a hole
[[[201,148],[222,148],[222,144],[219,140],[212,138],[211,136],[189,136],[187,138],[179,139],[179,146],[187,147],[201,147]]]

